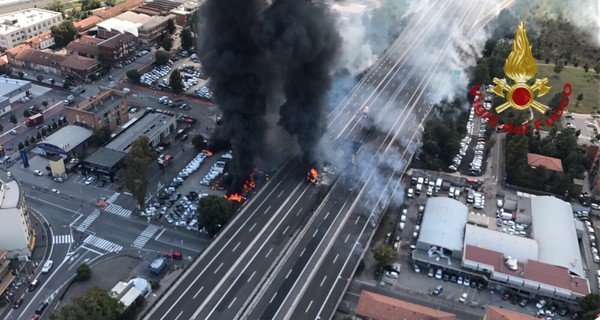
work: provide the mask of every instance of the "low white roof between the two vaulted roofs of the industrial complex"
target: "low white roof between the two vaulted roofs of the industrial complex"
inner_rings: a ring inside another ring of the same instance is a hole
[[[519,262],[538,259],[538,244],[535,240],[470,224],[465,229],[465,245],[502,252]]]

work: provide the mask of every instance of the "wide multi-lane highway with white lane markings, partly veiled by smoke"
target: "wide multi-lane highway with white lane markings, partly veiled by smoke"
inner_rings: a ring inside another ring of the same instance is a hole
[[[306,168],[290,161],[145,319],[330,318],[377,217],[400,186],[431,110],[430,76],[444,61],[414,65],[411,50],[432,40],[420,37],[435,28],[431,21],[457,19],[466,31],[486,9],[439,2],[413,15],[410,27],[330,115],[333,140],[361,143],[359,166],[326,190],[306,183]],[[436,45],[450,50],[451,39],[438,34]],[[358,111],[366,105],[375,123],[390,130],[362,128]]]

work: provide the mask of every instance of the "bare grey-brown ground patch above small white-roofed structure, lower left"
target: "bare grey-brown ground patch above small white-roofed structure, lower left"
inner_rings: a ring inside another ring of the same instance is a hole
[[[132,272],[140,262],[142,259],[130,256],[119,256],[102,261],[92,267],[92,277],[89,280],[73,283],[62,300],[69,304],[71,299],[83,295],[94,286],[110,290],[117,282],[126,281],[130,276],[135,276]]]

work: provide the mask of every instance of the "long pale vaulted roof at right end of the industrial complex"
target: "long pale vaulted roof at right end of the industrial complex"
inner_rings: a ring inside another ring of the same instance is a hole
[[[538,242],[539,260],[583,276],[581,252],[568,202],[550,196],[531,197],[532,237]]]

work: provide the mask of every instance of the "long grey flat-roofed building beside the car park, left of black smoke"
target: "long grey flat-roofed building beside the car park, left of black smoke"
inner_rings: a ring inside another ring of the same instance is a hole
[[[177,121],[173,113],[148,111],[129,127],[124,128],[104,147],[127,153],[133,141],[141,136],[148,137],[150,145],[156,147],[175,132],[176,128]]]

